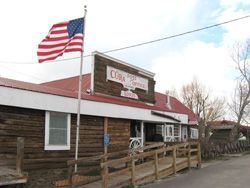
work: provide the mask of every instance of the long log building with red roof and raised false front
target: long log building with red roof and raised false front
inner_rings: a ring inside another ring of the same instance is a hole
[[[32,84],[0,78],[0,150],[8,164],[25,138],[24,169],[66,167],[74,157],[78,77]],[[198,139],[197,118],[176,98],[154,91],[154,74],[95,52],[83,76],[79,157],[154,141]]]

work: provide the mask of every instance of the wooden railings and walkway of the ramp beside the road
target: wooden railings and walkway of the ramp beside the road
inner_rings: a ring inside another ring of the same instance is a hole
[[[69,160],[67,161],[68,179],[60,180],[56,185],[73,187],[89,183],[91,180],[86,180],[86,176],[85,179],[82,178],[84,176],[80,175],[80,171],[74,172],[74,165],[96,162],[96,164],[100,164],[98,169],[101,176],[98,181],[95,179],[94,187],[120,187],[128,184],[135,186],[148,180],[166,177],[184,168],[200,167],[200,154],[201,149],[198,142],[179,143],[171,146],[159,142],[134,150]]]

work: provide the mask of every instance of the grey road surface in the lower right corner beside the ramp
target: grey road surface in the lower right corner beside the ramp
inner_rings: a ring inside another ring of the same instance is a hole
[[[231,157],[192,169],[184,174],[144,185],[145,188],[238,188],[250,187],[250,155]]]

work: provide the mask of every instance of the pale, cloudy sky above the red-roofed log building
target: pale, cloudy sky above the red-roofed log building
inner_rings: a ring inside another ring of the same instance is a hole
[[[55,23],[84,15],[84,55],[151,41],[250,15],[250,0],[8,0],[0,2],[0,76],[41,83],[79,75],[79,53],[38,64],[37,46]],[[250,18],[107,55],[154,72],[156,91],[200,80],[214,96],[230,96],[235,42],[250,38]],[[66,59],[66,60],[65,60]],[[84,58],[83,72],[91,70]]]

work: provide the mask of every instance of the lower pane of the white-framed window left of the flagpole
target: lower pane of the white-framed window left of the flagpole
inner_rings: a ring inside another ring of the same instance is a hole
[[[67,145],[67,129],[50,129],[49,145]]]

